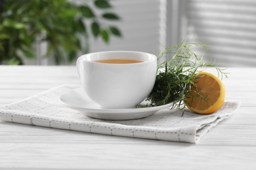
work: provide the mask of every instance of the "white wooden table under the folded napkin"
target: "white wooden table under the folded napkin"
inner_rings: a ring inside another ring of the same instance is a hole
[[[198,144],[0,122],[0,169],[256,169],[256,68],[228,72],[226,99],[242,105]],[[0,105],[70,83],[72,66],[2,65]]]

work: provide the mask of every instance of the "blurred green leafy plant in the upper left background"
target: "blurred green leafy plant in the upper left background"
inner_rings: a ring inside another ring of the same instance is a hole
[[[83,1],[81,1],[83,2]],[[121,37],[106,20],[120,20],[108,0],[77,5],[68,0],[0,0],[0,64],[20,64],[36,58],[35,43],[47,42],[45,57],[56,64],[72,62],[89,52],[89,39]],[[85,38],[85,42],[81,41]]]

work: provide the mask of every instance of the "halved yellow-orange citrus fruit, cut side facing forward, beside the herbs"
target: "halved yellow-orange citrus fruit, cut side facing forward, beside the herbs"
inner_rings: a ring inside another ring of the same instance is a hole
[[[219,110],[225,97],[223,82],[207,72],[200,72],[196,77],[196,84],[186,97],[186,107],[199,114],[211,114]]]

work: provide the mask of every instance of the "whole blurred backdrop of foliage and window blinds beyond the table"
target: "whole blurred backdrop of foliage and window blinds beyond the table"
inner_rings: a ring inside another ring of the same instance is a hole
[[[253,0],[0,0],[1,65],[74,65],[82,54],[158,55],[181,39],[221,67],[256,67]]]

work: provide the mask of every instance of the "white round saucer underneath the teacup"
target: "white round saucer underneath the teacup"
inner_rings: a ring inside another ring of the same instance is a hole
[[[104,120],[131,120],[144,118],[154,112],[171,107],[173,104],[161,105],[158,107],[145,107],[135,109],[103,109],[86,95],[82,88],[75,88],[60,96],[60,101],[71,109],[78,110],[91,118]]]

